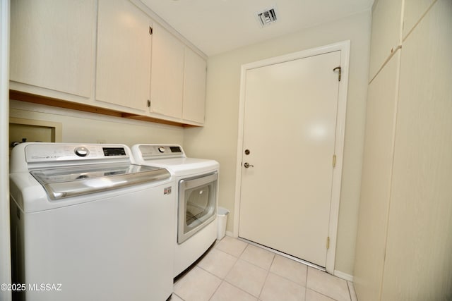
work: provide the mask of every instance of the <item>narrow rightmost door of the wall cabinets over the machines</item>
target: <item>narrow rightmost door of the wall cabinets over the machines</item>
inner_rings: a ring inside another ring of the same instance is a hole
[[[182,119],[204,123],[206,104],[206,61],[185,48],[184,104]]]

